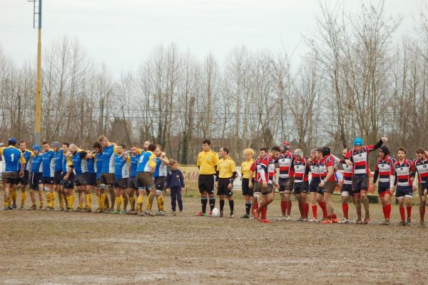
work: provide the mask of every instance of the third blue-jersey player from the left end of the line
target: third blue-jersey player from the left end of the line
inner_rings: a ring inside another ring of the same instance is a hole
[[[44,196],[43,189],[41,184],[41,176],[43,173],[43,155],[41,154],[41,146],[39,144],[34,144],[33,148],[33,157],[31,159],[31,170],[29,176],[30,182],[30,198],[31,198],[31,208],[29,210],[36,210],[36,194],[34,191],[39,193],[39,210],[43,209],[44,205]]]

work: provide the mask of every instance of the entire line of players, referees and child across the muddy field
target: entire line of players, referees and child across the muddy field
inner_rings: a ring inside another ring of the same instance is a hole
[[[331,154],[330,148],[312,149],[305,157],[302,149],[290,151],[290,144],[282,142],[270,151],[245,149],[245,160],[241,164],[242,193],[245,197],[243,219],[256,219],[270,223],[267,206],[272,203],[275,192],[280,194],[281,216],[277,220],[290,220],[292,194],[297,199],[300,217],[297,221],[319,221],[323,224],[350,223],[349,202],[355,204],[357,219],[355,224],[370,223],[369,186],[370,169],[368,158],[371,151],[379,149],[379,159],[375,164],[373,185],[382,201],[384,221],[390,224],[391,196],[395,194],[399,202],[400,224],[410,225],[412,214],[412,194],[414,179],[417,177],[419,189],[420,224],[424,226],[424,214],[428,189],[428,151],[417,149],[417,158],[406,159],[406,150],[397,149],[394,159],[382,137],[375,145],[363,145],[355,139],[352,149],[344,149],[342,157]],[[18,146],[16,146],[18,144]],[[235,161],[229,156],[229,149],[220,149],[220,158],[210,149],[210,141],[205,139],[198,154],[198,189],[201,196],[201,211],[196,216],[224,216],[225,199],[230,208],[229,217],[234,217],[233,181],[238,177]],[[170,189],[171,210],[175,216],[183,211],[181,194],[185,189],[183,174],[178,162],[168,159],[160,145],[146,141],[142,149],[131,146],[126,151],[123,144],[112,144],[106,136],[100,136],[92,150],[79,149],[76,144],[54,141],[49,144],[34,145],[26,149],[26,141],[9,139],[7,147],[0,148],[5,163],[2,173],[4,184],[4,210],[16,209],[18,186],[21,186],[21,206],[24,209],[26,187],[31,196],[30,210],[36,210],[36,193],[39,209],[55,209],[56,194],[60,211],[92,212],[92,192],[98,199],[97,213],[136,214],[153,216],[153,201],[156,199],[156,215],[164,216],[163,191]],[[342,172],[337,171],[342,166]],[[168,169],[169,166],[169,169]],[[277,174],[277,169],[279,173]],[[220,201],[220,209],[215,208],[215,193]],[[332,194],[340,189],[342,194],[343,219],[337,218]],[[78,203],[76,209],[75,191]],[[44,207],[46,194],[46,207]],[[143,209],[146,200],[146,209]],[[312,219],[309,219],[309,201]],[[128,210],[129,205],[129,210]],[[317,217],[317,205],[322,209],[322,217]],[[362,205],[365,209],[362,218]],[[404,206],[406,209],[404,209]],[[216,213],[218,211],[218,214]],[[407,219],[406,219],[407,211]]]

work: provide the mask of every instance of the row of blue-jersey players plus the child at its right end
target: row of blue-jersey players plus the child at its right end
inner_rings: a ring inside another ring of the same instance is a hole
[[[159,145],[146,141],[143,149],[131,146],[130,151],[126,151],[126,146],[111,144],[106,136],[100,136],[91,151],[79,149],[76,144],[61,144],[58,141],[52,144],[44,141],[41,146],[35,144],[31,151],[26,149],[26,141],[19,141],[18,147],[16,144],[17,140],[11,138],[7,147],[0,148],[5,164],[2,173],[4,210],[16,209],[19,185],[20,209],[24,209],[26,186],[29,185],[30,210],[37,209],[36,193],[39,196],[39,209],[54,210],[58,193],[58,210],[91,212],[92,191],[95,190],[97,213],[153,216],[152,205],[156,198],[156,215],[163,216],[162,193],[164,189],[170,189],[173,214],[176,203],[179,211],[183,211],[183,174],[177,168],[177,161],[168,159]],[[170,166],[169,171],[167,166]],[[73,208],[75,188],[78,197],[76,209]],[[146,209],[143,211],[145,196]],[[127,211],[128,204],[130,209]]]

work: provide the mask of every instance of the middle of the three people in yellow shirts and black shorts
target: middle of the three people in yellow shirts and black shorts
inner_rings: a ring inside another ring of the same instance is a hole
[[[217,187],[217,194],[220,198],[220,216],[223,217],[223,209],[225,207],[225,196],[228,196],[230,215],[233,218],[233,180],[236,177],[235,161],[229,156],[229,149],[222,147],[220,149],[221,159],[218,161],[217,177],[215,186]]]

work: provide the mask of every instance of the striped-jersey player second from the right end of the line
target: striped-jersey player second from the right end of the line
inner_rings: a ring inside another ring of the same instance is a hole
[[[403,148],[397,149],[398,161],[394,163],[394,185],[397,186],[395,197],[398,199],[399,214],[401,216],[401,226],[410,226],[412,216],[412,184],[414,180],[414,166],[412,161],[406,159],[406,150]],[[394,193],[394,189],[392,190]],[[407,209],[407,221],[404,220],[404,204]]]

